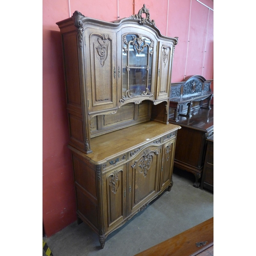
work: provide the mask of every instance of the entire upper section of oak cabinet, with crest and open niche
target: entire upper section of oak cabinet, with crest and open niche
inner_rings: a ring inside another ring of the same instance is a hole
[[[57,25],[72,146],[89,154],[93,137],[148,120],[168,123],[178,38],[161,35],[145,5],[114,22],[75,11]]]

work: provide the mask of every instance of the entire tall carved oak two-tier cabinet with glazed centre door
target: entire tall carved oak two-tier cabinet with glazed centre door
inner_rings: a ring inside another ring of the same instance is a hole
[[[145,6],[103,22],[74,12],[63,47],[78,221],[106,237],[173,185],[177,130],[168,123],[178,38]]]

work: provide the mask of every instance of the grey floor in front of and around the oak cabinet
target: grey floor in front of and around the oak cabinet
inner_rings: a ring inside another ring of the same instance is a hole
[[[194,180],[190,173],[175,172],[172,190],[111,233],[103,249],[97,234],[84,223],[74,222],[43,239],[53,256],[133,256],[214,217],[214,194],[193,187]]]

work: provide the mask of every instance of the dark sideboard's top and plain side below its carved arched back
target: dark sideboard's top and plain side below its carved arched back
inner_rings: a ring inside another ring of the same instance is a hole
[[[178,131],[174,166],[186,170],[195,175],[195,187],[200,186],[199,179],[202,176],[204,157],[206,151],[206,139],[214,133],[214,106],[210,110],[194,109],[191,117],[178,116],[178,120],[170,123],[178,124]]]

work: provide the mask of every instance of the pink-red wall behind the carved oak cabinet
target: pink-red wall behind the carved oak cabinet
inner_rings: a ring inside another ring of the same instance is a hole
[[[70,0],[70,11],[68,0],[44,0],[42,219],[47,237],[76,220],[71,153],[67,148],[69,132],[61,40],[56,22],[68,18],[69,13],[72,15],[76,10],[107,21],[116,20],[118,14],[121,18],[129,17],[133,14],[133,2],[135,13],[143,4],[150,9],[151,18],[163,35],[167,31],[167,36],[179,37],[172,82],[190,75],[213,78],[213,11],[208,11],[196,0],[119,0],[119,9],[117,0]],[[201,2],[214,9],[212,0]]]

